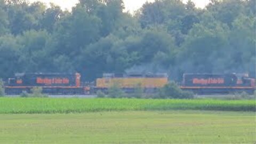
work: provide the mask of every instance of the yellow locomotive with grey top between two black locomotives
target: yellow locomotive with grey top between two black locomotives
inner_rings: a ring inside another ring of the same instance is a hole
[[[103,74],[96,80],[96,89],[104,91],[118,84],[125,91],[133,90],[138,85],[145,90],[156,90],[167,83],[167,74]]]

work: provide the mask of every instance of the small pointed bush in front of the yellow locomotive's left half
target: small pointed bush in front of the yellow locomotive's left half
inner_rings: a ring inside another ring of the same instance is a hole
[[[112,86],[109,87],[108,89],[109,98],[123,98],[124,96],[125,94],[118,83],[114,83]]]

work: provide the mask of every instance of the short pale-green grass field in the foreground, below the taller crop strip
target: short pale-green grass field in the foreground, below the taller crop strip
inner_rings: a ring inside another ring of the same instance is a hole
[[[254,143],[254,112],[1,114],[0,143]]]

